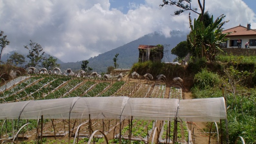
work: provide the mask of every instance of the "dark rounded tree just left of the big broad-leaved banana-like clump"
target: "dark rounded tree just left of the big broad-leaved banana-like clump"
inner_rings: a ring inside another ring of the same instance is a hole
[[[178,57],[178,59],[182,59],[183,57],[185,57],[189,53],[187,41],[182,41],[178,43],[177,46],[175,46],[171,50],[171,53],[175,54]]]

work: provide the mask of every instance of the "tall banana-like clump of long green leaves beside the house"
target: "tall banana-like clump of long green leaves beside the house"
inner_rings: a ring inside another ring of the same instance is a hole
[[[191,43],[191,53],[193,58],[206,57],[207,60],[215,60],[216,54],[221,51],[219,48],[220,43],[226,41],[224,37],[226,34],[222,34],[222,26],[228,21],[222,22],[225,15],[219,16],[213,22],[213,16],[211,17],[212,24],[204,26],[203,22],[200,21],[201,15],[198,19],[192,20],[189,15],[191,32],[188,35],[188,39]]]

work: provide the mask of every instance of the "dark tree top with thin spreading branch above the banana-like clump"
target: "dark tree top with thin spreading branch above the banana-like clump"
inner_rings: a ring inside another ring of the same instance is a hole
[[[163,0],[163,4],[159,5],[161,8],[163,6],[167,6],[167,5],[175,5],[177,7],[179,7],[179,10],[174,11],[173,15],[180,15],[181,13],[185,12],[185,11],[192,11],[196,14],[201,14],[204,15],[204,8],[205,8],[205,0],[202,0],[203,3],[201,3],[201,0],[197,0],[198,1],[198,5],[199,8],[201,10],[201,13],[197,12],[197,8],[192,8],[191,6],[191,1],[192,0]],[[203,16],[200,17],[200,21],[203,21]]]

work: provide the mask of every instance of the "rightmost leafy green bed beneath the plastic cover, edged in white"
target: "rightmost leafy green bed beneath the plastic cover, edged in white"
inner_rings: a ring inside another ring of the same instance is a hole
[[[170,129],[168,128],[169,124],[170,124]],[[172,142],[173,130],[174,130],[174,121],[170,121],[170,122],[164,121],[161,132],[160,132],[160,136],[159,136],[160,143],[166,143],[166,139],[169,143],[169,138],[170,138],[170,142]],[[186,140],[188,139],[188,129],[187,129],[186,122],[184,121],[178,122],[176,139],[178,143],[186,143]]]

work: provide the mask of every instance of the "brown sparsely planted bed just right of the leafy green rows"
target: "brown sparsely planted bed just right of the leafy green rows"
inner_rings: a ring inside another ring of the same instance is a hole
[[[132,83],[132,82],[125,83],[122,86],[122,88],[120,88],[113,96],[133,97],[138,87],[139,87],[138,83]]]

